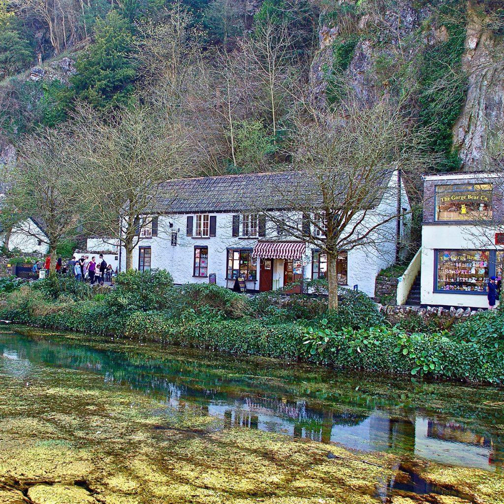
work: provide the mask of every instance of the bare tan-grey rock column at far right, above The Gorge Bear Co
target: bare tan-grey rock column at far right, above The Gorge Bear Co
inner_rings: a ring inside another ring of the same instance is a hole
[[[489,25],[491,19],[471,5],[462,58],[469,87],[454,132],[465,170],[482,167],[492,132],[504,122],[504,46]]]

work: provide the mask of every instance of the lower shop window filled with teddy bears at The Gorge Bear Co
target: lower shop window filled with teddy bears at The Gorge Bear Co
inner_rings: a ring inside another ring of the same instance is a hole
[[[437,290],[485,292],[489,255],[481,250],[438,250]]]

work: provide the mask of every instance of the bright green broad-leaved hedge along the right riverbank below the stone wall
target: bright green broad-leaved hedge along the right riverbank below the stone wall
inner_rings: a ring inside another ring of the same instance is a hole
[[[454,341],[447,333],[407,335],[385,326],[334,331],[323,320],[306,329],[301,357],[337,368],[504,383],[502,360],[482,362],[482,352],[477,344]]]

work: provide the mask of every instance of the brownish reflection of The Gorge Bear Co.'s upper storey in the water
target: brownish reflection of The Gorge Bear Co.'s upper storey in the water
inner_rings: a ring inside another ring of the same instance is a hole
[[[504,467],[504,446],[498,437],[484,436],[457,422],[428,421],[427,436],[449,442],[473,445],[488,450],[488,464]]]

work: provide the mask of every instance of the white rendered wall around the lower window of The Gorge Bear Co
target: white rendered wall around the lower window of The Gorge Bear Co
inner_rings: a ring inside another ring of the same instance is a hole
[[[471,306],[488,308],[486,294],[456,294],[434,292],[434,250],[504,250],[491,240],[489,228],[464,225],[422,226],[421,303],[428,305]]]

